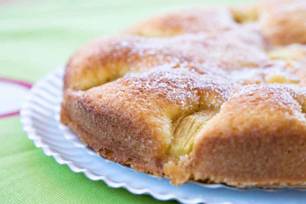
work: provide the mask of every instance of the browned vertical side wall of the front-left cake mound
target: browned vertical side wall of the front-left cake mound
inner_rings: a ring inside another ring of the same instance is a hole
[[[139,151],[139,147],[143,145],[140,138],[146,137],[147,130],[139,131],[128,118],[115,115],[111,110],[105,109],[104,114],[95,114],[89,107],[78,103],[77,96],[67,92],[69,91],[66,91],[66,99],[62,104],[61,122],[76,132],[84,144],[112,161],[131,165],[137,171],[162,176],[162,151],[153,149],[157,144],[146,144],[145,150]],[[104,133],[94,134],[98,132]],[[126,135],[137,135],[138,141],[131,139],[129,146],[120,147],[125,142]]]

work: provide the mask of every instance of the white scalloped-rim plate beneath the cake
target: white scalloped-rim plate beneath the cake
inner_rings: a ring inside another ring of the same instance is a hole
[[[127,165],[100,157],[85,146],[77,135],[59,122],[62,101],[60,67],[35,83],[21,109],[21,123],[28,138],[59,164],[73,172],[83,172],[91,180],[103,180],[110,187],[124,187],[134,194],[150,194],[159,200],[176,199],[182,203],[206,204],[300,204],[306,192],[299,189],[235,189],[221,184],[183,184],[172,186],[168,179],[159,180]]]

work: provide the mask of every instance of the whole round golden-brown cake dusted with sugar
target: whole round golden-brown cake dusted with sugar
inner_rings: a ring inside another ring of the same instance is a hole
[[[305,13],[302,0],[185,9],[92,41],[67,63],[61,121],[175,185],[305,187]]]

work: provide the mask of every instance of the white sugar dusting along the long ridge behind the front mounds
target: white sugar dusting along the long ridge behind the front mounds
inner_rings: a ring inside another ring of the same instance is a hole
[[[99,45],[98,45],[99,46]],[[259,34],[247,29],[184,34],[172,38],[121,36],[101,43],[99,49],[108,58],[124,60],[134,71],[164,63],[200,63],[224,70],[256,67],[268,60],[265,43]]]

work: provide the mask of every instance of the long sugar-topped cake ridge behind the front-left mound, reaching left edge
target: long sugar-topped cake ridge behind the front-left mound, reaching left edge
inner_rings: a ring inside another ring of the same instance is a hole
[[[270,64],[262,36],[248,30],[185,34],[173,38],[125,35],[97,39],[67,64],[64,90],[86,90],[165,63],[205,63],[208,67],[242,69]],[[252,56],[252,57],[250,57]]]

